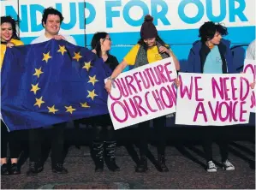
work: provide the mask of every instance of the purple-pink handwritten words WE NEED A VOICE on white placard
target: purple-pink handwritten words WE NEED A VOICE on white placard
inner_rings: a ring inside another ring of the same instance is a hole
[[[182,84],[182,76],[179,77],[181,81],[181,98],[188,97],[188,99],[192,99],[194,96],[195,100],[198,101],[196,109],[194,110],[193,122],[196,122],[199,116],[203,116],[205,122],[209,121],[209,117],[211,117],[213,121],[220,122],[246,121],[243,117],[244,114],[247,113],[247,110],[244,109],[244,104],[246,104],[250,90],[249,81],[246,78],[212,77],[212,98],[220,100],[205,102],[204,98],[199,98],[199,92],[203,92],[203,89],[198,85],[203,82],[201,77],[191,76],[189,87],[184,86]],[[239,81],[239,86],[235,86],[237,80]],[[205,106],[208,106],[207,110],[210,110],[210,116],[206,114]],[[236,116],[236,112],[239,112],[240,115]]]

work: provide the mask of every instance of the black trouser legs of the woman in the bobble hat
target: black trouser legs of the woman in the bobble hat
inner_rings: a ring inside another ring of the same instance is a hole
[[[155,135],[157,138],[157,149],[158,154],[164,155],[165,144],[166,144],[166,117],[161,116],[153,119],[153,127],[155,130]],[[150,121],[140,122],[138,124],[138,133],[140,138],[140,155],[146,155],[147,144],[148,144],[148,136],[150,130]]]

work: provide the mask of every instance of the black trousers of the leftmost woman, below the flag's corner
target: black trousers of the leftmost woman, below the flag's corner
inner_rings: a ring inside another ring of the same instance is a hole
[[[1,158],[7,157],[7,145],[9,143],[10,158],[18,158],[21,153],[20,131],[8,132],[1,120]]]

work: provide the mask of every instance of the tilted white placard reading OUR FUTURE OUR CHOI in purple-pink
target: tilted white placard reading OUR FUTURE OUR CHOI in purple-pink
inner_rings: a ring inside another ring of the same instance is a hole
[[[108,108],[115,129],[176,111],[176,68],[172,58],[120,74],[112,86]]]

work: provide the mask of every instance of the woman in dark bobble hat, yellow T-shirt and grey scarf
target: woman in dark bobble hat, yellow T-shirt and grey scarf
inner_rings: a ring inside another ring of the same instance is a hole
[[[123,69],[128,65],[138,68],[146,65],[147,63],[157,62],[167,57],[172,57],[175,63],[176,70],[180,69],[180,63],[174,55],[173,51],[166,45],[164,41],[158,36],[158,30],[153,24],[153,18],[151,15],[146,15],[144,23],[140,28],[140,37],[137,45],[128,52],[123,58],[122,62],[116,67],[113,74],[105,84],[105,89],[110,92],[112,81],[122,73]],[[153,126],[157,132],[158,138],[158,170],[169,171],[165,165],[165,131],[166,117],[161,116],[153,119]],[[140,135],[140,163],[136,166],[136,172],[146,172],[147,161],[147,135],[150,127],[150,121],[139,123],[139,135]]]

